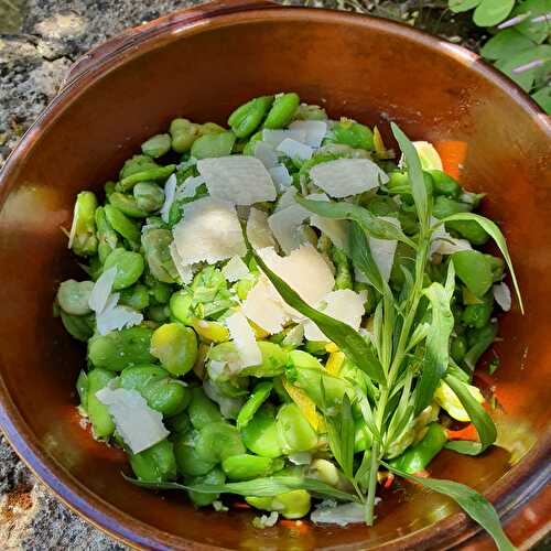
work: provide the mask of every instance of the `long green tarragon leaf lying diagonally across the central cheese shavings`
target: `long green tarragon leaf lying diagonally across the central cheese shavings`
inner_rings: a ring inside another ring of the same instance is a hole
[[[274,273],[266,262],[252,250],[255,260],[260,269],[272,282],[281,298],[301,314],[310,317],[320,331],[331,341],[333,341],[345,354],[345,356],[365,371],[377,382],[385,382],[385,372],[375,356],[371,346],[366,343],[361,335],[346,323],[339,322],[322,312],[318,312],[310,304],[304,302],[299,293],[291,289],[277,273]]]

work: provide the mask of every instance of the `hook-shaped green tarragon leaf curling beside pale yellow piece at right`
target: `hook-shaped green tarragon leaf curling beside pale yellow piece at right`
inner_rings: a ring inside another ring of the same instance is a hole
[[[465,455],[478,455],[496,441],[496,425],[484,407],[478,403],[469,392],[468,386],[465,382],[461,381],[453,375],[446,375],[444,377],[444,381],[460,399],[460,402],[468,413],[468,417],[478,433],[478,437],[480,439],[480,442],[449,442],[446,447]]]

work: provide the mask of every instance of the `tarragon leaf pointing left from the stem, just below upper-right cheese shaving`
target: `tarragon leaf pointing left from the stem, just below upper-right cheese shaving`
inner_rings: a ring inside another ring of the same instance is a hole
[[[364,231],[377,239],[390,239],[402,241],[410,247],[415,244],[398,227],[387,220],[374,216],[367,208],[353,203],[332,203],[328,201],[312,201],[301,196],[295,196],[296,203],[306,210],[323,216],[324,218],[335,218],[337,220],[354,220]]]

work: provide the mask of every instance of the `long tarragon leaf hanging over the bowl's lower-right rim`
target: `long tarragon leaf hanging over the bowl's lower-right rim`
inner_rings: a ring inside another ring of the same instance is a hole
[[[419,476],[409,475],[403,471],[393,468],[390,465],[382,463],[392,473],[412,480],[425,488],[437,491],[451,497],[474,521],[478,522],[494,538],[499,551],[514,551],[515,547],[507,538],[499,517],[494,509],[494,506],[473,488],[453,480],[441,480],[436,478],[420,478]]]

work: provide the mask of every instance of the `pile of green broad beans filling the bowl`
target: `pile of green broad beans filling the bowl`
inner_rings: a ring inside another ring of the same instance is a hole
[[[257,334],[260,365],[238,376],[216,372],[218,364],[230,365],[238,357],[224,320],[245,300],[259,270],[247,256],[244,260],[250,273],[239,281],[228,282],[220,262],[201,267],[191,284],[182,283],[170,252],[171,229],[182,217],[182,205],[206,195],[205,186],[198,187],[193,198],[175,201],[168,217],[163,215],[170,179],[182,185],[196,176],[196,160],[252,154],[263,129],[284,129],[296,120],[327,120],[327,116],[317,106],[301,104],[298,94],[285,93],[245,102],[229,116],[227,126],[175,118],[162,133],[142,143],[141,151],[105,184],[101,195],[83,191],[76,197],[71,249],[86,274],[82,281],[69,279],[60,284],[54,312],[66,331],[87,346],[87,368],[77,380],[80,413],[89,420],[96,439],[128,452],[130,467],[140,480],[180,480],[193,486],[285,476],[300,468],[303,472],[306,467],[295,466],[293,461],[305,456],[312,476],[335,488],[345,485],[318,412],[354,396],[350,381],[372,403],[378,398],[377,388],[348,359],[343,363],[338,350],[326,343],[290,342],[292,327],[271,336]],[[312,159],[283,159],[293,185],[300,192],[303,186],[311,190],[310,170],[318,163],[372,159],[389,173],[389,182],[377,194],[356,197],[357,203],[374,216],[397,217],[403,231],[414,236],[419,224],[408,171],[398,162],[377,156],[369,127],[343,118],[331,121],[328,128]],[[476,206],[463,201],[464,191],[444,172],[425,171],[424,179],[435,197],[434,218]],[[273,205],[259,208],[272,209]],[[473,247],[488,239],[486,231],[471,222],[447,222],[445,228]],[[365,292],[363,325],[368,327],[380,294],[356,279],[345,250],[313,227],[309,231],[310,241],[335,268],[335,290]],[[396,293],[406,284],[404,273],[413,261],[412,249],[399,244],[389,281]],[[451,358],[471,380],[498,332],[491,289],[504,277],[504,262],[475,248],[462,250],[437,257],[425,274],[428,280],[443,282],[450,262],[456,273]],[[118,293],[118,304],[141,313],[143,321],[100,334],[89,299],[95,282],[111,268],[116,269],[112,293]],[[329,364],[339,367],[329,372]],[[162,415],[170,435],[133,454],[96,396],[106,387],[138,392]],[[363,454],[371,449],[374,435],[358,403],[353,403],[352,411],[354,453]],[[446,442],[443,418],[436,413],[431,410],[420,415],[402,431],[387,457],[391,465],[411,474],[429,466]],[[355,456],[355,463],[359,457]],[[197,507],[220,498],[195,490],[190,490],[188,497]],[[310,511],[314,496],[296,489],[274,497],[245,498],[255,508],[295,519]]]

